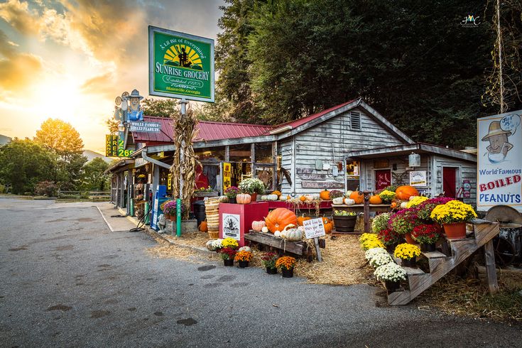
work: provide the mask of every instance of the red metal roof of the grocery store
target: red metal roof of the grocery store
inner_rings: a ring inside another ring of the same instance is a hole
[[[355,100],[355,99],[354,99]],[[328,114],[340,107],[344,107],[354,100],[339,104],[330,109],[317,112],[310,116],[305,116],[301,119],[286,122],[284,124],[278,124],[277,126],[267,126],[263,124],[236,124],[231,122],[211,122],[211,121],[200,121],[196,125],[196,129],[199,129],[197,138],[195,141],[212,141],[232,138],[248,138],[250,136],[263,136],[270,134],[270,131],[280,129],[283,126],[291,126],[292,128],[301,126],[307,122],[317,119],[320,116]],[[156,116],[143,116],[143,121],[148,122],[159,122],[161,124],[160,133],[138,133],[132,132],[134,142],[136,143],[147,143],[147,145],[158,145],[158,143],[172,143],[174,131],[172,127],[172,120],[168,117],[156,117]]]

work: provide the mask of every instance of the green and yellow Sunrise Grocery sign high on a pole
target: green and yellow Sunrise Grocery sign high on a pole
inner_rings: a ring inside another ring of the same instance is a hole
[[[214,102],[214,40],[148,27],[149,94]]]

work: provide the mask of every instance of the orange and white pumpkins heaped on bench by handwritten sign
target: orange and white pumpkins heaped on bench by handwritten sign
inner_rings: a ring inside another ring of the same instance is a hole
[[[303,222],[312,219],[311,217],[297,217],[294,212],[286,208],[271,210],[264,220],[252,222],[252,229],[255,232],[273,233],[274,236],[288,241],[300,241],[305,237],[305,227]],[[330,219],[322,217],[325,225],[325,232],[330,234],[334,224]]]

